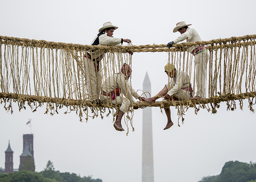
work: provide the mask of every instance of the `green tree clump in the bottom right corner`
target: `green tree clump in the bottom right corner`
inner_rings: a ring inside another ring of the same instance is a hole
[[[203,177],[199,182],[256,182],[256,162],[226,162],[221,174]]]

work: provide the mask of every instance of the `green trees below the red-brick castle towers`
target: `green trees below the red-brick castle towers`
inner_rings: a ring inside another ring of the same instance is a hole
[[[0,173],[1,182],[102,182],[101,179],[93,179],[91,176],[80,177],[75,173],[61,173],[56,171],[49,160],[44,171],[35,172],[35,164],[30,158],[26,158],[21,171],[15,173]]]

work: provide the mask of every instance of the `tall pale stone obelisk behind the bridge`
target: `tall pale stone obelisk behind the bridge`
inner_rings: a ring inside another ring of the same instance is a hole
[[[151,93],[151,83],[146,73],[143,91]],[[146,93],[147,98],[149,94]],[[142,182],[154,182],[153,137],[151,107],[142,111]]]

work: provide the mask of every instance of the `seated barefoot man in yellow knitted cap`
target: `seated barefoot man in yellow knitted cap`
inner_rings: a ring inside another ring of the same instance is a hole
[[[165,72],[170,78],[173,78],[173,88],[170,89],[170,85],[167,83],[165,87],[157,94],[157,96],[151,98],[141,98],[143,101],[155,103],[155,100],[158,99],[158,96],[164,96],[166,100],[185,100],[192,98],[192,87],[190,83],[189,76],[184,71],[176,70],[175,66],[172,63],[168,63],[165,66]],[[171,97],[172,96],[172,97]],[[167,116],[167,124],[163,130],[166,130],[173,126],[171,119],[171,110],[170,107],[164,108],[165,114]]]

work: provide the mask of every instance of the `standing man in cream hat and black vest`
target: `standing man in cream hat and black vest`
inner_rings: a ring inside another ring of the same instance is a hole
[[[110,21],[103,23],[103,26],[99,29],[98,35],[94,37],[90,45],[122,46],[123,42],[131,43],[132,41],[130,39],[113,37],[113,32],[117,28],[118,27],[112,25]],[[133,54],[130,50],[123,53],[126,52],[131,55]],[[101,104],[101,100],[99,100],[99,92],[101,90],[101,72],[99,70],[99,62],[105,56],[105,53],[106,51],[102,50],[88,50],[84,55],[83,63],[86,69],[89,99],[91,103]]]

